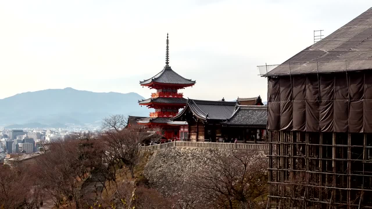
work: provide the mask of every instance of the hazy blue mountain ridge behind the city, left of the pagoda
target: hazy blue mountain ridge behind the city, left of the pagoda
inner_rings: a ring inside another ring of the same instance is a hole
[[[96,93],[72,88],[26,92],[0,99],[0,125],[100,123],[110,114],[147,116],[149,109],[138,105],[140,99],[144,98],[137,93]]]

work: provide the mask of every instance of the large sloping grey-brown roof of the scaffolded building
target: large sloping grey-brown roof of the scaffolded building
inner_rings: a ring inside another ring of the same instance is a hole
[[[371,35],[372,8],[264,76],[372,69]]]

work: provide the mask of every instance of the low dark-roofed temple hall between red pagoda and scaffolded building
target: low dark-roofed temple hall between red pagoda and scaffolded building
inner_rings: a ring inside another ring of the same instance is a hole
[[[266,139],[267,106],[188,99],[186,107],[168,123],[187,124],[191,141],[259,143]]]

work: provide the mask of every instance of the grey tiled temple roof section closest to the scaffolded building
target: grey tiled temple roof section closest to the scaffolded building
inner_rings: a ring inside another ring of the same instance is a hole
[[[265,126],[267,125],[267,106],[237,105],[235,112],[223,125],[227,126]]]

